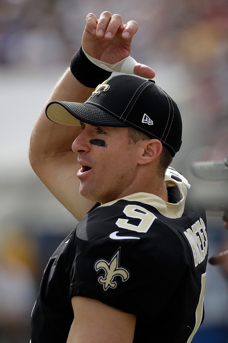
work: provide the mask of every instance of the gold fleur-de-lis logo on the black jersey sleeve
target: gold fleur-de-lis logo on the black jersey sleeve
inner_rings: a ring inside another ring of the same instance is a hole
[[[116,280],[117,276],[120,276],[122,282],[126,282],[130,278],[130,272],[119,265],[120,260],[120,248],[112,256],[110,261],[105,259],[97,260],[94,264],[94,269],[98,273],[100,270],[104,272],[100,275],[97,281],[103,285],[104,291],[108,288],[115,289],[118,287],[118,282]]]

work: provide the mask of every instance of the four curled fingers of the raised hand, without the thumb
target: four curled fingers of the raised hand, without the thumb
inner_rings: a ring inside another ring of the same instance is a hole
[[[130,40],[138,30],[138,23],[134,20],[123,24],[123,18],[120,14],[111,15],[110,12],[102,12],[99,19],[95,14],[89,13],[86,16],[86,27],[92,34],[98,38],[112,39],[119,30],[122,38]]]

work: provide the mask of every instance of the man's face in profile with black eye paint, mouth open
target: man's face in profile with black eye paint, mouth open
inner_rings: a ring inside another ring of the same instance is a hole
[[[139,144],[129,144],[128,128],[93,126],[81,122],[82,132],[72,144],[81,165],[80,193],[107,203],[132,193],[137,175]]]

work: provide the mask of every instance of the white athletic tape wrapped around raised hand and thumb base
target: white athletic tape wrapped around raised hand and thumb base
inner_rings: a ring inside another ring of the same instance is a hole
[[[84,51],[84,49],[82,48],[82,50]],[[91,57],[90,55],[86,54],[86,52],[84,51],[85,56],[94,64],[96,64],[96,66],[105,69],[107,71],[115,71],[115,72],[120,72],[123,74],[134,74],[134,68],[135,68],[135,64],[137,63],[134,58],[132,58],[131,56],[128,56],[126,58],[124,58],[123,60],[114,63],[114,64],[110,64],[110,63],[106,63],[106,62],[102,62],[100,60],[97,60],[94,57]]]

